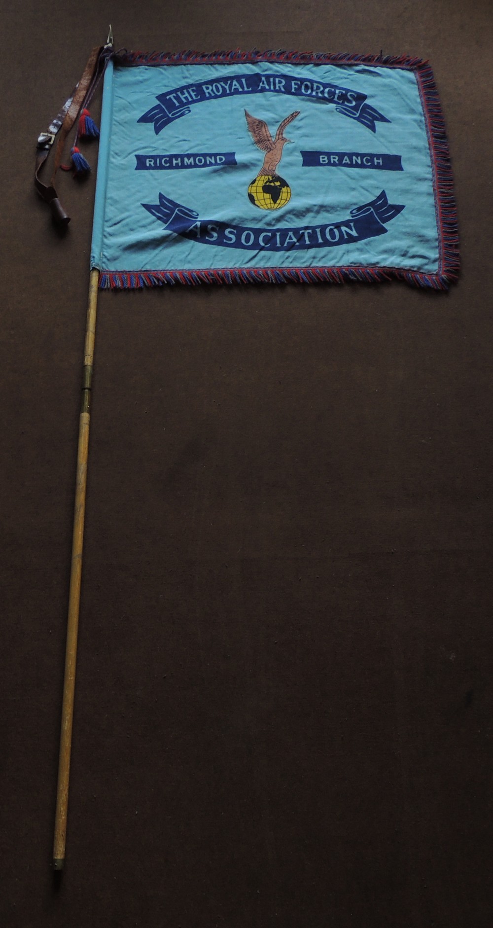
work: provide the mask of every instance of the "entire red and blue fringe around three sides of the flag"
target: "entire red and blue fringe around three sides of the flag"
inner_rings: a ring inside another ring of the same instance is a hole
[[[99,287],[109,289],[140,289],[161,287],[163,284],[235,284],[235,283],[338,283],[360,281],[405,280],[407,283],[432,290],[448,290],[459,277],[459,231],[454,198],[452,168],[448,152],[445,122],[438,98],[433,71],[428,61],[409,56],[350,55],[324,52],[227,51],[200,53],[184,52],[123,52],[115,57],[118,65],[230,64],[231,62],[290,61],[297,64],[373,64],[387,68],[414,71],[422,98],[426,131],[432,159],[435,190],[436,225],[439,230],[438,271],[423,274],[398,267],[269,267],[222,268],[219,270],[175,271],[105,271],[99,273]]]

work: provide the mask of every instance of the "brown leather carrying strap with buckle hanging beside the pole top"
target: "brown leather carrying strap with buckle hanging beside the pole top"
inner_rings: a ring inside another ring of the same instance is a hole
[[[62,109],[58,113],[58,116],[56,116],[53,122],[51,122],[48,131],[41,133],[38,138],[36,166],[34,170],[34,187],[38,191],[39,195],[43,198],[43,200],[45,200],[45,203],[48,203],[51,207],[53,218],[58,226],[68,226],[71,218],[69,215],[67,215],[60,201],[58,200],[57,191],[54,187],[55,174],[57,174],[58,167],[63,156],[63,148],[67,135],[69,135],[73,123],[77,119],[80,111],[83,109],[84,100],[92,89],[92,84],[97,81],[101,62],[103,68],[105,67],[108,56],[102,58],[101,52],[106,48],[108,48],[107,45],[97,45],[93,48],[87,64],[85,65],[83,76],[81,77],[79,83],[75,86],[71,97],[66,100]],[[57,148],[55,150],[53,174],[51,175],[49,185],[46,185],[40,180],[39,174],[50,153],[51,147],[55,142],[55,138],[58,135],[58,132],[60,134],[58,137]]]

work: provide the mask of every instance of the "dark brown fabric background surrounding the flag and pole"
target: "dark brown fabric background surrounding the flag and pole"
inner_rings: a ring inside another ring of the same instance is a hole
[[[2,924],[489,928],[489,0],[8,6]],[[430,58],[463,270],[101,294],[56,885],[94,176],[60,176],[59,238],[33,143],[110,21],[134,49]]]

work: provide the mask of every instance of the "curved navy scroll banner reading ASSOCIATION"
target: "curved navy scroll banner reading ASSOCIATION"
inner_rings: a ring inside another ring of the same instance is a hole
[[[240,248],[247,251],[306,251],[310,248],[331,248],[346,242],[361,241],[383,235],[385,223],[395,219],[405,209],[389,203],[383,190],[378,197],[350,210],[350,218],[321,226],[284,227],[266,229],[262,226],[235,226],[223,222],[199,219],[199,213],[170,200],[162,193],[159,203],[142,203],[156,219],[175,235],[189,238],[202,245],[220,245],[222,248]]]

